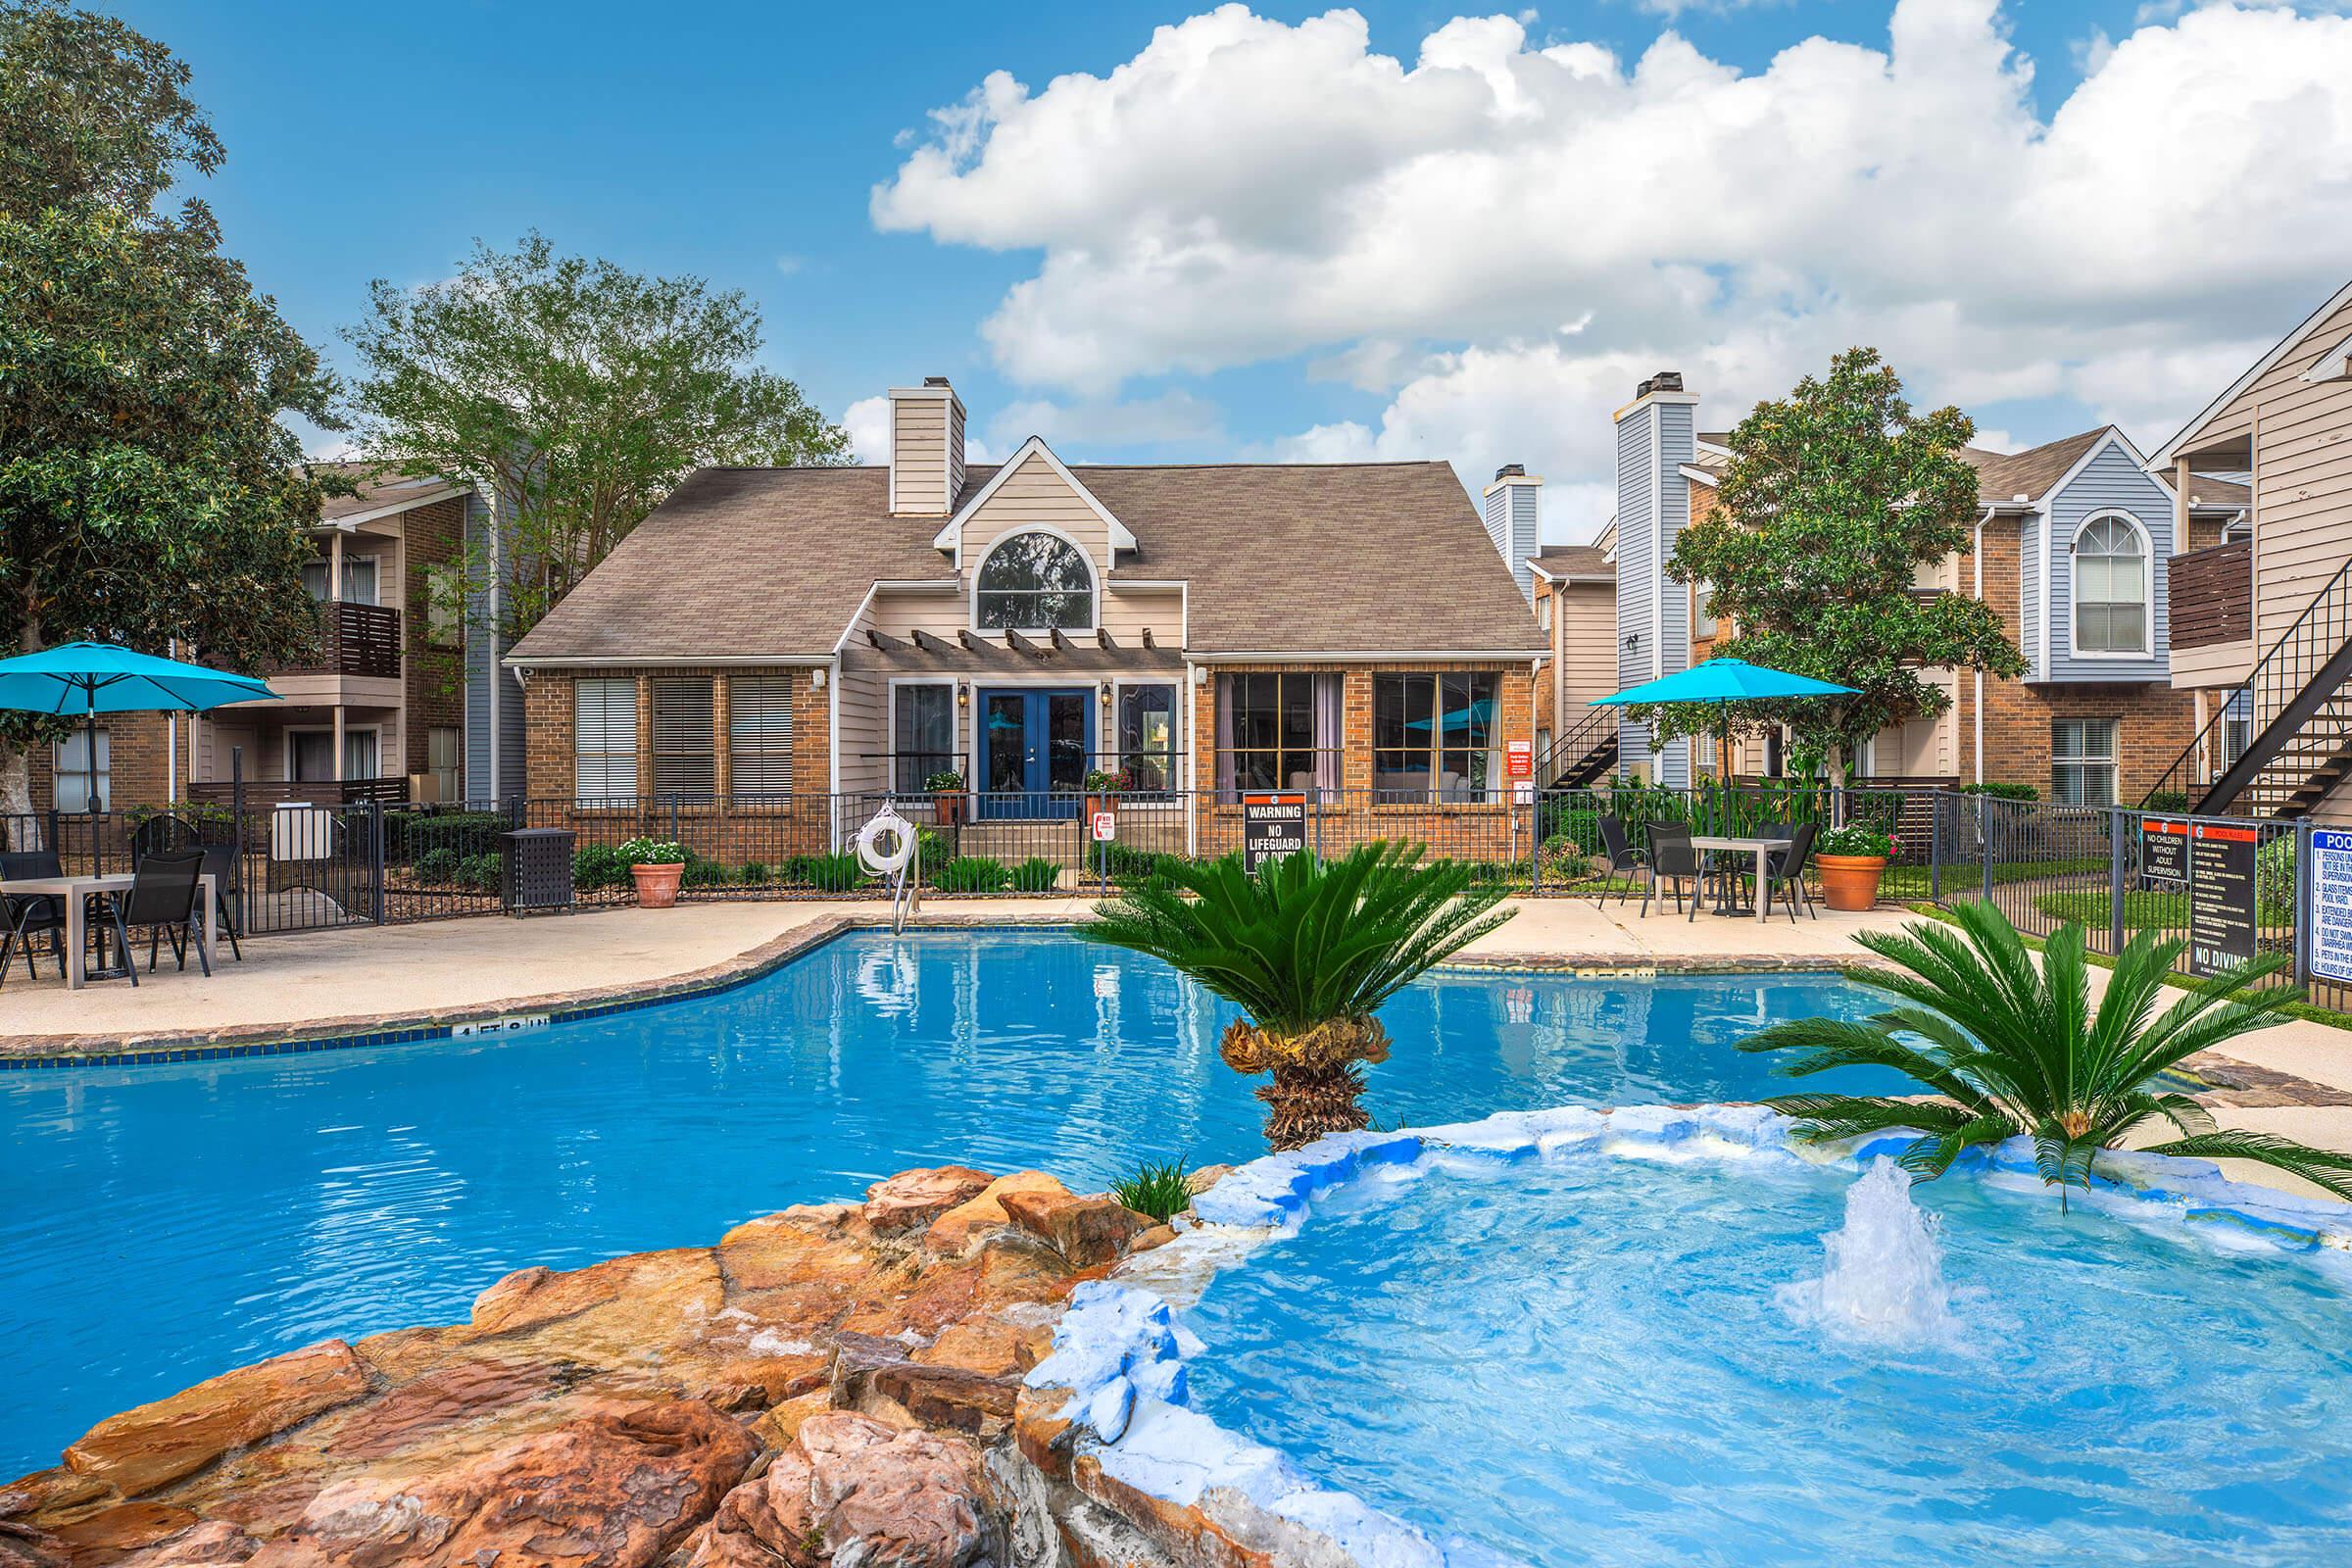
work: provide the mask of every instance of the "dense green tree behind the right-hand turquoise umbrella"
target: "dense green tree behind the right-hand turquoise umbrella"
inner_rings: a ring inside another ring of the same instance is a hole
[[[1915,571],[1971,548],[1976,470],[1959,409],[1915,414],[1872,348],[1837,355],[1731,433],[1717,505],[1675,541],[1668,576],[1703,583],[1733,630],[1717,654],[1856,686],[1858,696],[1743,703],[1736,731],[1788,724],[1830,759],[1950,703],[1929,670],[2025,675],[2002,616],[1962,592],[1912,592]],[[1656,708],[1661,736],[1715,733],[1715,710]]]

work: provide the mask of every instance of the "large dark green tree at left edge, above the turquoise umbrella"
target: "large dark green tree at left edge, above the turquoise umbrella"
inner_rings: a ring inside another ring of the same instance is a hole
[[[0,646],[101,637],[254,668],[318,637],[322,491],[280,423],[332,428],[318,355],[221,254],[221,143],[160,42],[0,0]],[[0,712],[0,811],[54,722]]]

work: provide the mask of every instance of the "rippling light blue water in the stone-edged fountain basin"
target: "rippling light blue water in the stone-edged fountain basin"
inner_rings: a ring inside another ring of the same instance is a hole
[[[1853,1173],[1759,1164],[1352,1190],[1185,1314],[1192,1403],[1548,1568],[2352,1561],[2340,1276],[1947,1178],[1950,1319],[1877,1342],[1797,1305]]]

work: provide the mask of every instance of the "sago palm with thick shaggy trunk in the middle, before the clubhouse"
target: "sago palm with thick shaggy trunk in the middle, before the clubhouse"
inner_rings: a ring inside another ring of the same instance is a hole
[[[1374,1011],[1510,919],[1491,912],[1503,889],[1475,889],[1470,865],[1421,853],[1376,842],[1338,860],[1284,856],[1256,877],[1240,856],[1169,863],[1077,931],[1167,959],[1240,1006],[1221,1053],[1235,1072],[1272,1074],[1258,1091],[1265,1143],[1296,1150],[1369,1126],[1364,1063],[1388,1060]]]

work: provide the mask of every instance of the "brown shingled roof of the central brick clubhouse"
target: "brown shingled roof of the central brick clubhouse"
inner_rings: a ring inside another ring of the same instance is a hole
[[[1543,637],[1444,463],[1073,468],[1178,578],[1200,654],[1538,654]],[[969,468],[967,501],[995,475]],[[706,468],[515,658],[830,654],[877,578],[953,581],[943,520],[891,517],[884,468]]]

